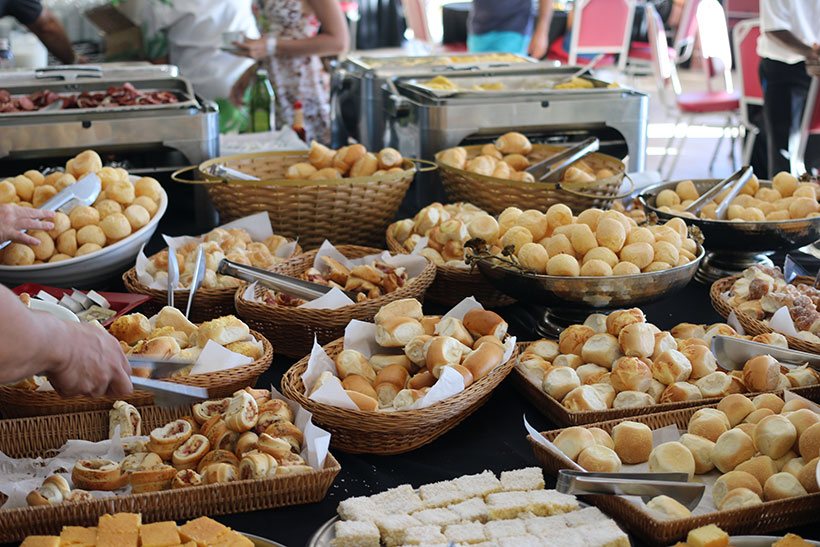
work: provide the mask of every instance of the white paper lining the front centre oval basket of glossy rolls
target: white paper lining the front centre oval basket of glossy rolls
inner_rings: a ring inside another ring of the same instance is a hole
[[[464,319],[464,315],[473,309],[483,310],[484,307],[471,296],[459,302],[453,309],[447,312],[445,317]],[[356,350],[367,358],[375,354],[395,353],[393,349],[383,348],[376,343],[376,325],[355,319],[348,323],[345,328],[344,349]],[[513,351],[515,351],[515,337],[510,336],[504,342],[504,357],[502,363],[506,363],[510,360]],[[306,393],[311,392],[313,386],[316,384],[316,380],[318,380],[322,372],[325,371],[329,371],[334,376],[337,376],[336,365],[333,359],[331,359],[324,348],[314,340],[313,349],[308,358],[307,368],[302,374],[302,383],[307,390]],[[461,374],[453,370],[452,367],[444,367],[438,381],[430,388],[430,391],[411,406],[402,410],[417,410],[428,407],[452,397],[464,391],[464,389],[464,378]],[[345,393],[341,381],[325,382],[319,389],[311,393],[308,398],[317,403],[337,406],[347,410],[358,410],[359,408],[347,393]],[[385,408],[380,409],[380,412],[400,411],[393,408]]]

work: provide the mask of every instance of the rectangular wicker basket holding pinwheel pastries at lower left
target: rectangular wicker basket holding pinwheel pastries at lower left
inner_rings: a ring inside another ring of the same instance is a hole
[[[190,409],[145,407],[140,413],[143,426],[150,430],[190,414]],[[108,410],[0,421],[0,451],[13,458],[44,456],[69,439],[106,438]],[[340,469],[339,462],[328,454],[324,469],[304,475],[0,510],[0,543],[20,541],[28,535],[59,535],[65,525],[96,526],[105,513],[137,512],[142,513],[144,522],[154,522],[316,503],[325,498]]]

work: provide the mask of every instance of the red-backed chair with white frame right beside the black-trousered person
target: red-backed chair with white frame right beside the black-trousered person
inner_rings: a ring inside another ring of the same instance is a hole
[[[749,119],[749,105],[763,104],[763,86],[757,67],[760,56],[757,54],[757,39],[760,37],[760,20],[746,19],[735,25],[732,30],[737,72],[740,77],[740,121],[748,132],[743,147],[743,165],[748,165],[752,158],[760,128]]]

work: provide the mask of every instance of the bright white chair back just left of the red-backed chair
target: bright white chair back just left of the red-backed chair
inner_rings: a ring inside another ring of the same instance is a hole
[[[734,91],[732,51],[723,6],[717,0],[701,0],[697,9],[697,20],[709,91],[713,91],[712,79],[721,76],[724,89],[731,93]]]

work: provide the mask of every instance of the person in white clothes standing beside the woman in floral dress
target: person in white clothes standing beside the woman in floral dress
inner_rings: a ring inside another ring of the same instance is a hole
[[[251,2],[152,0],[145,2],[142,12],[146,43],[161,41],[158,35],[167,41],[167,52],[152,56],[152,61],[177,65],[198,95],[216,101],[223,132],[239,130],[247,121],[228,98],[231,86],[253,62],[221,49],[222,34],[241,32],[248,38],[259,37]]]

